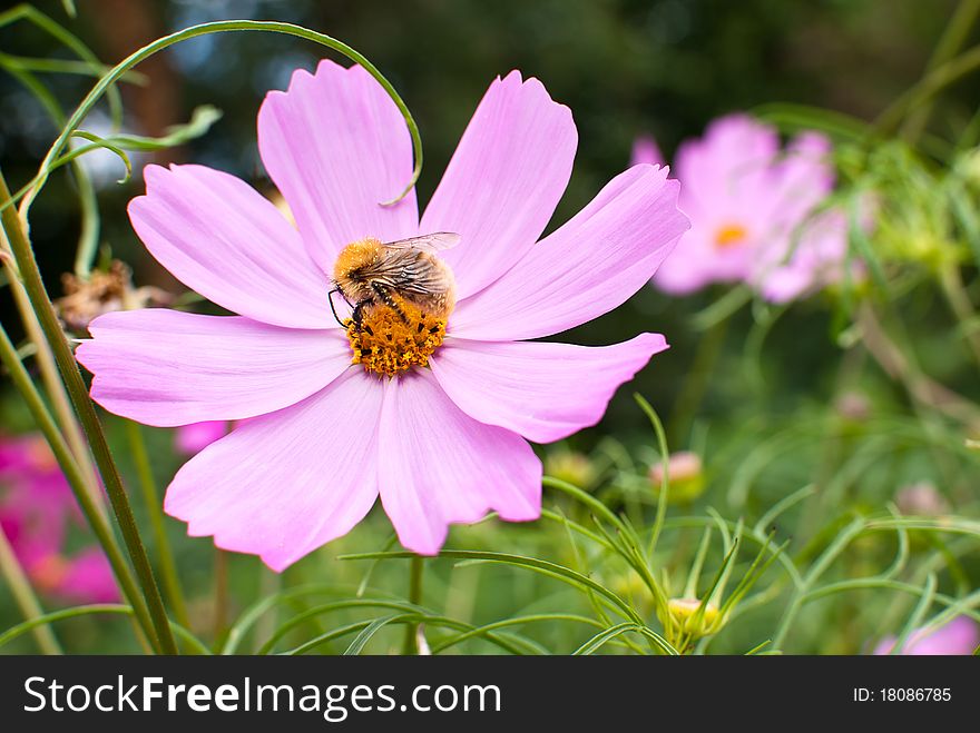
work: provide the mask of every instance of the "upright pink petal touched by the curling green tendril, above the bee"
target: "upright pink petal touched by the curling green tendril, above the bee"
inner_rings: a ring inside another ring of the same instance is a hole
[[[418,234],[412,140],[394,102],[360,66],[324,59],[316,73],[293,73],[258,111],[258,150],[296,217],[313,259],[326,273],[349,242]]]

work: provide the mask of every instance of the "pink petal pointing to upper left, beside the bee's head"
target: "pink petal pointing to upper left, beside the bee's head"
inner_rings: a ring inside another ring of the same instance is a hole
[[[330,280],[270,200],[204,166],[147,166],[129,204],[150,254],[187,287],[254,320],[331,328]]]

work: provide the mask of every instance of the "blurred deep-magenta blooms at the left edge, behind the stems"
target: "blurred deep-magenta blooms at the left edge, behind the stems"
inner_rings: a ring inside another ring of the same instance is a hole
[[[0,526],[40,591],[80,603],[119,600],[100,548],[65,552],[68,519],[80,524],[81,515],[43,438],[0,438]]]

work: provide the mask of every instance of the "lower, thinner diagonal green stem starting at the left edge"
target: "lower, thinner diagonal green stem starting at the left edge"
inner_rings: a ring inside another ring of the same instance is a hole
[[[28,410],[35,418],[35,423],[37,423],[41,434],[47,438],[48,445],[51,446],[51,453],[55,454],[55,459],[58,462],[58,466],[65,474],[68,485],[75,493],[75,498],[78,501],[78,505],[81,507],[85,518],[88,521],[89,525],[91,525],[96,538],[99,541],[106,556],[109,558],[109,564],[112,567],[112,572],[116,574],[116,580],[122,590],[122,594],[131,602],[134,613],[137,620],[140,621],[140,626],[146,632],[151,631],[153,625],[150,624],[146,607],[140,603],[140,594],[136,587],[136,581],[133,578],[129,566],[122,557],[122,552],[116,544],[116,538],[112,536],[108,521],[100,512],[98,512],[91,497],[86,491],[85,478],[78,464],[75,463],[75,459],[71,456],[71,450],[69,450],[68,444],[58,432],[55,418],[51,417],[51,414],[48,412],[47,406],[41,399],[41,395],[30,379],[30,375],[28,375],[23,364],[21,364],[20,359],[17,357],[17,350],[13,348],[13,344],[7,336],[7,331],[3,329],[2,325],[0,325],[0,361],[7,367],[7,370],[10,373],[13,380],[13,385],[23,396]]]

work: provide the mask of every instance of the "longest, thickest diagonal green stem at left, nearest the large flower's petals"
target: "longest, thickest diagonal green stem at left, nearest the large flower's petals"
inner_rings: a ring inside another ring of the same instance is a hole
[[[0,174],[0,201],[8,201],[10,190],[7,188],[7,181]],[[164,601],[160,597],[160,591],[157,587],[149,558],[146,556],[146,548],[139,538],[139,529],[133,517],[133,509],[129,506],[129,499],[126,496],[126,489],[122,487],[122,479],[119,477],[119,470],[112,460],[112,454],[109,450],[109,444],[102,433],[102,426],[99,423],[95,406],[89,399],[88,389],[81,373],[75,361],[75,355],[68,339],[65,337],[61,326],[58,323],[58,316],[55,313],[55,306],[45,290],[45,284],[41,280],[41,273],[38,269],[37,261],[31,251],[30,242],[27,239],[24,229],[13,207],[7,207],[2,212],[3,230],[7,234],[7,240],[13,252],[17,268],[23,278],[23,286],[30,298],[31,306],[40,320],[41,328],[45,331],[48,344],[53,350],[55,360],[58,363],[58,369],[61,378],[68,388],[68,395],[75,412],[78,415],[89,445],[92,448],[96,464],[102,476],[106,492],[109,495],[109,503],[112,506],[112,513],[126,543],[126,549],[133,561],[136,575],[143,590],[144,598],[149,608],[151,628],[145,628],[155,647],[166,654],[176,654],[177,644],[174,641],[174,634],[170,631],[167,613],[164,610]],[[130,602],[136,606],[135,600]],[[154,630],[156,634],[154,634]]]

